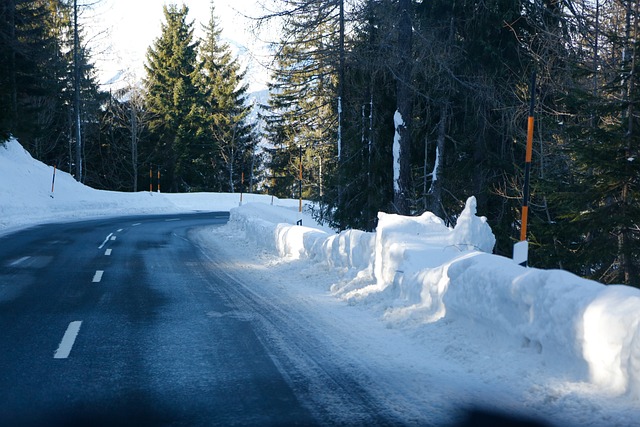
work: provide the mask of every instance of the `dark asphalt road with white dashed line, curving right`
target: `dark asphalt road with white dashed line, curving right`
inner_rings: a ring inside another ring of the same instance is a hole
[[[0,237],[0,425],[398,424],[312,325],[204,253],[193,231],[227,219]]]

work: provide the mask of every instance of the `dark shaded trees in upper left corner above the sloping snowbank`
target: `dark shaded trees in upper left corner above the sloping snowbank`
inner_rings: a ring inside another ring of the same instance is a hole
[[[83,134],[97,141],[96,118],[104,99],[81,28],[77,80],[74,75],[73,6],[61,0],[0,3],[0,134],[16,136],[36,158],[69,171],[75,170],[79,121],[74,117],[81,115]]]

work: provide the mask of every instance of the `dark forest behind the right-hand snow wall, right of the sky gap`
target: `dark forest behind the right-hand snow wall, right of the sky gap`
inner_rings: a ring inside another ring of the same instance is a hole
[[[281,2],[272,188],[295,194],[302,147],[304,195],[336,228],[454,222],[475,195],[510,255],[535,72],[531,261],[639,286],[639,3],[360,0],[342,42],[342,0]]]

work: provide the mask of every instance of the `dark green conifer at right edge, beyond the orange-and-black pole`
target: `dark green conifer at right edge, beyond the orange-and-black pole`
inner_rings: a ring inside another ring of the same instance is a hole
[[[623,2],[601,10],[607,19],[594,54],[598,66],[586,55],[576,62],[578,86],[571,93],[564,134],[569,185],[552,202],[562,220],[558,239],[567,268],[605,283],[640,287],[640,122],[635,111],[640,17],[631,6]]]

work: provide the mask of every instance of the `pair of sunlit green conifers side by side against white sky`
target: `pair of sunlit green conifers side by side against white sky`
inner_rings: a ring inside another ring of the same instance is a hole
[[[220,41],[213,6],[204,40],[188,8],[164,6],[162,34],[147,53],[151,167],[169,191],[235,191],[251,173],[255,137],[240,66]],[[255,165],[254,165],[255,167]]]

